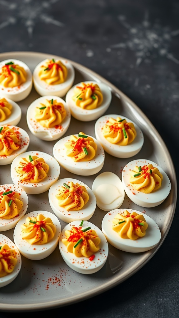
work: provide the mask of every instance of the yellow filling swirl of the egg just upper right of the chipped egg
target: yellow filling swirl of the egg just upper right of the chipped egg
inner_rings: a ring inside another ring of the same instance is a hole
[[[101,105],[103,94],[97,84],[81,83],[81,86],[75,87],[72,99],[75,101],[76,106],[90,110]]]

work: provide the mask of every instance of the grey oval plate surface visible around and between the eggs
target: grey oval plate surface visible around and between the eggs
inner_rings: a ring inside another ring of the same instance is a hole
[[[36,52],[8,52],[0,54],[0,61],[19,59],[25,62],[32,72],[35,66],[46,58],[64,59],[56,55]],[[92,183],[96,176],[104,171],[109,171],[109,168],[111,172],[117,174],[121,179],[122,169],[131,160],[144,157],[156,162],[167,173],[171,181],[171,191],[167,199],[155,208],[143,209],[132,203],[125,195],[121,208],[138,210],[153,218],[160,228],[161,240],[155,248],[142,253],[123,252],[109,244],[109,257],[104,267],[99,272],[90,275],[80,274],[69,268],[63,261],[58,247],[46,259],[39,261],[29,260],[22,256],[21,273],[10,285],[0,289],[0,309],[2,311],[32,311],[61,307],[93,297],[116,286],[140,270],[153,257],[166,238],[174,217],[177,197],[175,169],[168,149],[157,130],[142,111],[118,88],[86,67],[73,61],[70,62],[75,68],[74,84],[81,81],[95,80],[108,85],[112,93],[112,100],[106,114],[121,114],[135,122],[144,134],[144,145],[139,154],[133,156],[132,159],[120,159],[105,153],[105,162],[102,170],[93,176],[77,177],[61,167],[59,179],[76,178],[92,189]],[[22,118],[18,126],[25,129],[30,136],[28,151],[45,151],[53,156],[53,147],[56,141],[49,142],[38,139],[32,135],[26,123],[27,108],[33,100],[39,97],[39,94],[32,88],[30,95],[25,100],[18,102],[22,109]],[[65,97],[63,99],[65,100]],[[83,131],[95,138],[95,122],[87,123],[72,117],[68,131],[64,136],[78,134],[79,131]],[[12,183],[10,167],[11,165],[1,166],[1,184]],[[53,213],[48,201],[48,191],[38,195],[28,195],[28,197],[29,205],[26,213],[34,210],[45,210]],[[101,222],[105,214],[105,211],[96,207],[96,211],[89,221],[101,229]],[[61,220],[60,223],[61,229],[63,229],[66,223]],[[2,232],[2,234],[13,240],[13,229]]]

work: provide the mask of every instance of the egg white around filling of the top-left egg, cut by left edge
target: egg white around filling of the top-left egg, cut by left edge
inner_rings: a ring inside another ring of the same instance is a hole
[[[27,73],[27,79],[26,82],[21,84],[20,86],[4,87],[0,85],[0,95],[14,101],[24,100],[32,90],[32,73],[30,71],[30,68],[24,62],[16,59],[7,59],[0,62],[0,73],[2,67],[9,62],[13,62],[16,65],[23,67]]]

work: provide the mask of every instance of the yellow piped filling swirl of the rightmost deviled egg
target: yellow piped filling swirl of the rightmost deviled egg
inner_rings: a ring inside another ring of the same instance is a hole
[[[152,164],[144,165],[143,167],[135,167],[130,172],[130,183],[132,183],[135,190],[143,193],[151,193],[161,187],[163,179],[162,174],[158,168],[153,167]]]

